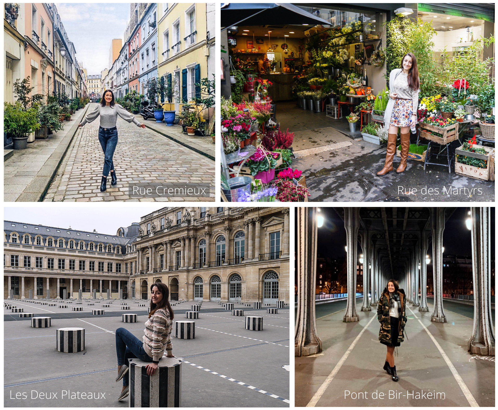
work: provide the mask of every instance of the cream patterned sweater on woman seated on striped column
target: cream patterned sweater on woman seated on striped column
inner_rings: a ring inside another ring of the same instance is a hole
[[[164,350],[171,352],[171,330],[173,321],[167,308],[157,309],[152,316],[145,322],[143,331],[143,349],[157,363],[162,357]]]

